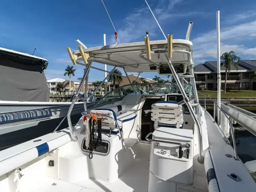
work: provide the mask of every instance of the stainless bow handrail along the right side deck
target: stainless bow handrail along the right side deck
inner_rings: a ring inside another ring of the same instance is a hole
[[[215,105],[220,109],[220,111],[228,119],[228,122],[229,122],[230,128],[231,128],[231,136],[232,136],[233,148],[234,148],[234,153],[235,153],[234,159],[239,161],[237,150],[236,150],[236,140],[235,140],[235,134],[234,134],[234,127],[232,125],[232,120],[226,115],[226,113],[220,108],[220,106],[218,106],[218,104],[216,104],[216,102],[214,102],[214,100],[212,98],[210,98],[209,96],[207,96],[207,95],[205,95],[205,94],[203,94],[203,93],[201,93],[199,91],[198,91],[198,93],[204,95],[204,106],[205,106],[205,108],[206,108],[206,97],[209,98],[214,103],[214,122],[215,122]]]

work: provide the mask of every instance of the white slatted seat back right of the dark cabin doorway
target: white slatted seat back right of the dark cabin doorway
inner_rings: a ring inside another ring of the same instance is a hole
[[[182,128],[182,106],[179,106],[176,101],[158,101],[152,104],[151,120],[155,122],[155,129],[159,126]]]

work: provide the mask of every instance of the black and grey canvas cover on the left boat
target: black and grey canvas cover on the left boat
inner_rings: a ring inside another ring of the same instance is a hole
[[[0,100],[48,102],[46,61],[0,50]]]

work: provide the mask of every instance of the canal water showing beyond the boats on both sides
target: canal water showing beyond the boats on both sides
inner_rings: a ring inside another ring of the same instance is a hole
[[[70,102],[67,98],[50,98],[50,102]],[[241,107],[241,106],[240,106]],[[241,107],[250,112],[256,113],[256,107]],[[213,116],[213,106],[208,106],[207,111]],[[238,156],[243,163],[256,160],[256,136],[241,126],[234,126],[236,148]]]

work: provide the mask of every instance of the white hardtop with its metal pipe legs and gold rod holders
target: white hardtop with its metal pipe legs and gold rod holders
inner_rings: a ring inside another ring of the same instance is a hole
[[[188,96],[183,87],[183,82],[186,82],[184,78],[190,78],[193,90],[196,90],[196,82],[194,79],[193,69],[194,63],[192,62],[192,42],[189,41],[192,23],[193,22],[190,22],[189,24],[186,40],[172,39],[172,34],[169,34],[167,40],[150,41],[148,33],[146,33],[147,36],[144,37],[144,42],[114,44],[108,46],[87,48],[84,44],[82,44],[82,42],[78,41],[81,44],[80,46],[78,46],[78,50],[72,52],[70,48],[67,48],[72,63],[74,65],[79,64],[86,67],[84,76],[81,79],[81,83],[79,84],[78,90],[67,114],[72,140],[76,141],[77,138],[76,136],[74,136],[72,131],[70,114],[74,103],[79,97],[79,92],[83,84],[82,82],[84,81],[86,81],[85,92],[87,92],[89,69],[94,68],[104,72],[108,72],[108,75],[112,73],[112,71],[109,72],[100,68],[92,67],[93,61],[114,66],[112,70],[114,70],[116,67],[123,68],[130,84],[132,84],[132,82],[129,79],[127,72],[140,73],[157,71],[158,74],[161,75],[174,76],[177,82],[177,86],[180,89],[180,92],[184,98],[184,104],[187,104],[188,109],[194,119],[194,122],[197,125],[198,140],[200,145],[200,155],[198,157],[198,162],[203,162],[204,158],[202,150],[202,130],[200,125],[201,110],[199,106],[198,95],[197,92],[194,92],[193,98],[192,96]],[[80,61],[84,61],[84,63],[81,63]],[[190,75],[184,75],[187,72]],[[100,86],[107,78],[108,76],[102,81],[98,88],[100,88]],[[180,81],[180,79],[182,81]],[[98,90],[98,88],[94,90],[94,93]],[[87,94],[85,94],[85,96],[86,97],[82,98],[82,100],[84,100],[84,102],[86,103],[88,100]],[[194,104],[190,103],[190,100],[192,99],[195,100]],[[193,107],[197,108],[197,116],[193,110]],[[86,104],[84,104],[84,108],[86,111]]]

